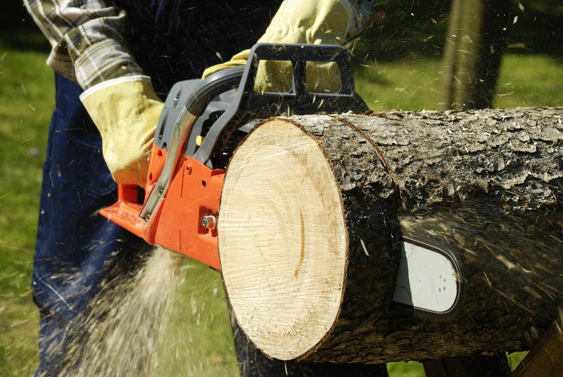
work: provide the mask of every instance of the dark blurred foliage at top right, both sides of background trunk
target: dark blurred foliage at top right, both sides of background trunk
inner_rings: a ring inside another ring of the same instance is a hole
[[[563,53],[563,2],[510,1],[506,39],[521,53]],[[360,62],[442,55],[451,0],[375,1],[372,23],[354,45]]]

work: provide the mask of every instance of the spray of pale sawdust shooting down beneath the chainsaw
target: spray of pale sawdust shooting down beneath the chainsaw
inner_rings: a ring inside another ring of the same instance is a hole
[[[105,287],[60,376],[148,376],[182,255],[155,248],[126,283]]]

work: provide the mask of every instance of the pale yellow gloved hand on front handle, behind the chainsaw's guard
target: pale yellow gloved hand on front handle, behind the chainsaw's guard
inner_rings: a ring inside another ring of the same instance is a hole
[[[346,37],[358,34],[369,20],[372,0],[284,0],[258,43],[277,44],[343,44]],[[250,50],[241,51],[225,63],[203,72],[207,77],[217,70],[246,64]],[[291,89],[291,63],[260,63],[255,91]],[[337,91],[339,74],[334,63],[308,65],[310,92]]]

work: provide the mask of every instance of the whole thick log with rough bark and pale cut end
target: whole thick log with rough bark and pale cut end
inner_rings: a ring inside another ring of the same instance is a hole
[[[267,356],[380,364],[528,350],[562,304],[563,109],[277,117],[224,177],[218,243]],[[448,316],[393,304],[403,236],[448,248]]]

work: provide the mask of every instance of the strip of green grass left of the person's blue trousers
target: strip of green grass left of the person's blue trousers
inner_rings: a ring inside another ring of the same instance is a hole
[[[0,376],[31,376],[37,363],[31,261],[53,108],[45,58],[0,44]]]

